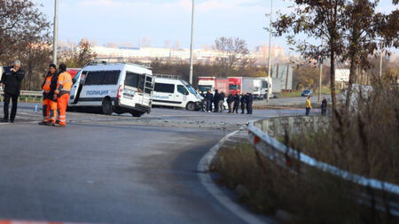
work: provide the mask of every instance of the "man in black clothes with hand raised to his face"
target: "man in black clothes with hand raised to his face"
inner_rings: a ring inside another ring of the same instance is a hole
[[[13,123],[17,115],[18,98],[20,97],[20,85],[25,77],[25,72],[20,68],[20,60],[16,60],[12,67],[6,67],[1,85],[4,85],[4,118],[2,122],[8,122],[10,99],[12,99],[12,113],[10,121]]]

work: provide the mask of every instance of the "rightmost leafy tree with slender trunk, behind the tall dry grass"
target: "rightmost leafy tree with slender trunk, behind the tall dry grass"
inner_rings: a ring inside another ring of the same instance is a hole
[[[382,42],[388,47],[395,47],[395,42],[397,43],[398,11],[392,12],[391,15],[376,12],[378,3],[378,1],[370,0],[348,1],[345,7],[348,19],[341,20],[345,48],[341,61],[348,60],[350,64],[345,113],[348,113],[350,99],[352,98],[352,85],[356,80],[356,67],[370,67],[369,58],[379,49],[378,37],[382,37]],[[395,22],[392,19],[396,19]]]

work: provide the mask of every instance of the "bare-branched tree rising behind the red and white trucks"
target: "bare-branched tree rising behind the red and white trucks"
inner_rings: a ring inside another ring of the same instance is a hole
[[[238,37],[220,37],[215,40],[215,50],[222,53],[216,58],[216,64],[221,67],[221,73],[227,75],[234,68],[242,68],[249,64],[249,50],[246,41]]]

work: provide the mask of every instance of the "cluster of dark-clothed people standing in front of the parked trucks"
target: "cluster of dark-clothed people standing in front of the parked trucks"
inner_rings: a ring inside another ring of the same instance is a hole
[[[223,112],[224,109],[224,100],[226,98],[223,92],[219,93],[217,89],[215,89],[215,94],[212,94],[210,90],[207,90],[207,93],[202,92],[200,94],[204,97],[204,104],[202,106],[202,111],[205,112]],[[241,113],[252,114],[252,104],[254,102],[254,97],[251,93],[241,94],[236,93],[232,95],[229,93],[226,99],[228,113],[239,113],[239,106],[241,106]],[[212,110],[212,105],[214,105],[214,110]],[[205,108],[204,108],[205,107]]]

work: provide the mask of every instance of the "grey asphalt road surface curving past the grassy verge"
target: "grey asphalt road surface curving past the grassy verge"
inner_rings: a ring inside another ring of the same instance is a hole
[[[34,109],[0,124],[0,220],[242,223],[200,184],[200,158],[249,120],[303,113],[69,112],[59,128],[38,126]]]

